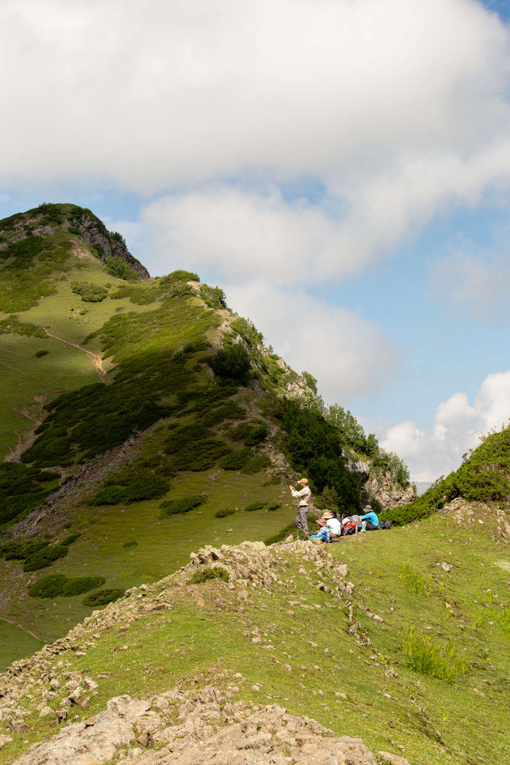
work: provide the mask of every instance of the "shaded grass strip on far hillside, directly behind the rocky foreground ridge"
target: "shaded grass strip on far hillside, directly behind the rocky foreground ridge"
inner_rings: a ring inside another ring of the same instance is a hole
[[[28,628],[45,643],[56,640],[69,628],[69,623],[82,620],[92,610],[83,605],[83,595],[74,597],[38,598],[27,594],[28,584],[48,574],[76,576],[105,576],[102,588],[127,589],[144,581],[158,581],[168,571],[185,565],[190,552],[204,544],[237,544],[245,539],[261,539],[278,532],[294,518],[289,507],[289,493],[281,496],[281,487],[261,487],[265,474],[242,476],[233,471],[217,470],[203,473],[181,474],[173,481],[171,496],[189,496],[206,491],[208,500],[185,515],[161,519],[160,499],[132,503],[128,506],[100,506],[90,508],[73,500],[67,512],[72,523],[65,534],[80,531],[80,539],[70,546],[70,553],[49,568],[24,574],[21,562],[0,561],[0,576],[13,582],[9,597],[5,598],[2,614]],[[243,509],[253,497],[268,502],[281,501],[278,510],[257,510],[246,513]],[[238,507],[234,515],[215,518],[214,513],[224,507]],[[226,532],[232,529],[232,532]],[[125,542],[137,545],[125,548]],[[13,636],[18,640],[18,631]],[[8,666],[13,658],[26,656],[33,646],[21,644],[18,655],[3,656],[0,668]]]

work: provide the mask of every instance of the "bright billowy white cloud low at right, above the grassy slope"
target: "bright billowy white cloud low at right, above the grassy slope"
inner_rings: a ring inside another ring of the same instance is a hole
[[[488,375],[473,405],[463,392],[440,403],[431,431],[420,431],[411,421],[400,422],[388,428],[381,445],[408,464],[412,480],[435,480],[456,470],[462,455],[479,444],[480,435],[499,430],[508,418],[510,370]]]

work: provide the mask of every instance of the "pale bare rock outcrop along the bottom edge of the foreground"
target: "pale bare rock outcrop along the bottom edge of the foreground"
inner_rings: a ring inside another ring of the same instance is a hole
[[[288,715],[276,704],[232,704],[233,698],[210,685],[199,692],[175,688],[150,700],[112,698],[105,711],[34,744],[13,765],[102,765],[115,756],[125,765],[376,765],[360,738],[337,738],[317,721]],[[176,702],[177,724],[170,724]],[[402,757],[384,755],[379,754],[386,762],[408,765]]]

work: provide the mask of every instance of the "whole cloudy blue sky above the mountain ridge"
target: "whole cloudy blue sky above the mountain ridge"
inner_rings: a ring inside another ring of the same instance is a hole
[[[510,0],[3,0],[0,217],[197,271],[409,465],[510,417]]]

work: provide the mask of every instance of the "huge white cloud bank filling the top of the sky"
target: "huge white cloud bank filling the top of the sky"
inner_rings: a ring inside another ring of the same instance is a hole
[[[343,220],[249,194],[244,223],[320,273],[508,184],[508,31],[470,0],[5,0],[0,51],[0,182],[172,190],[190,236],[203,184],[313,177]]]

